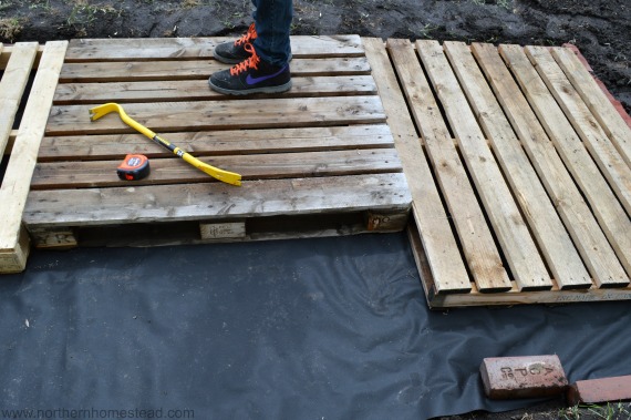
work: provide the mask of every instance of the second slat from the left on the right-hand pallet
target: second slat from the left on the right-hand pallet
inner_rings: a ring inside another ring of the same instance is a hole
[[[443,119],[437,117],[441,111],[412,44],[403,40],[387,40],[387,48],[477,287],[484,291],[510,289],[510,280],[490,229],[452,136]]]

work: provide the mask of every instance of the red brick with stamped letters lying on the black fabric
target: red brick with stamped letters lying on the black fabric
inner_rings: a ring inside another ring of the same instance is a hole
[[[550,397],[568,386],[556,355],[486,358],[479,371],[486,396],[496,400]]]

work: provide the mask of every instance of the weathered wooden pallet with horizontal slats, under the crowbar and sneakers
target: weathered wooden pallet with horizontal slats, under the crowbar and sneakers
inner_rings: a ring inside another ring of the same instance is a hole
[[[293,88],[228,98],[207,79],[220,38],[72,40],[23,224],[38,247],[164,245],[396,232],[411,196],[361,39],[292,38]],[[217,182],[125,125],[106,102],[204,162]],[[42,115],[39,115],[41,119]],[[126,154],[151,175],[121,181]],[[34,157],[34,156],[33,156]]]

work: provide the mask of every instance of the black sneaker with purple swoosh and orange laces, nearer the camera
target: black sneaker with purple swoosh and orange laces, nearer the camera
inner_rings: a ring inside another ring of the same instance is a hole
[[[214,91],[229,95],[250,93],[279,93],[291,89],[289,64],[276,66],[262,61],[252,44],[247,43],[245,51],[250,58],[228,70],[210,75],[208,84]]]

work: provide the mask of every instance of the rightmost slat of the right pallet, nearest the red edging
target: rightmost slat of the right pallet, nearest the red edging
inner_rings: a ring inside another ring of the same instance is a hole
[[[573,52],[559,47],[552,48],[551,52],[627,164],[631,166],[631,127]]]

